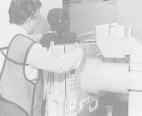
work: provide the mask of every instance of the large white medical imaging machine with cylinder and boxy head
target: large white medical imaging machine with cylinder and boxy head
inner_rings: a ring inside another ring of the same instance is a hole
[[[129,95],[129,116],[142,115],[140,41],[131,37],[130,28],[116,23],[96,25],[94,32],[96,41],[82,43],[87,59],[82,60],[78,69],[52,73],[46,112],[49,116],[77,116],[85,108],[93,112],[98,107],[98,98],[112,92]],[[59,56],[74,49],[73,44],[56,45],[52,46],[52,53]],[[96,104],[92,107],[93,101]]]

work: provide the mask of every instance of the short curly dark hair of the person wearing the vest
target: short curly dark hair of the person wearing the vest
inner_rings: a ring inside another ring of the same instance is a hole
[[[11,24],[21,25],[28,18],[34,18],[37,9],[40,9],[39,0],[11,0],[9,8],[9,22]]]

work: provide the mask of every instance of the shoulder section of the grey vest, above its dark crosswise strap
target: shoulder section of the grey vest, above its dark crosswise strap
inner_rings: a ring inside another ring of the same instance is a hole
[[[29,37],[21,34],[15,35],[8,46],[6,59],[16,64],[23,65],[23,63],[26,62],[26,57],[31,46],[34,43],[36,42]]]

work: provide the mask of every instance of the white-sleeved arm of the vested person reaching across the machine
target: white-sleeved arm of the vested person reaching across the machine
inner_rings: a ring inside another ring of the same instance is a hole
[[[28,54],[27,63],[37,69],[43,69],[56,73],[64,73],[71,69],[77,68],[84,51],[77,48],[72,53],[67,53],[59,57],[55,57],[50,50],[43,48],[40,44],[34,44]]]

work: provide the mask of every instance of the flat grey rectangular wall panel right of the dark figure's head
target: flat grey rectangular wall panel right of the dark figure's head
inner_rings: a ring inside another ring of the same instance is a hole
[[[77,34],[93,31],[97,24],[117,21],[117,5],[113,2],[82,2],[70,4],[70,30]]]

